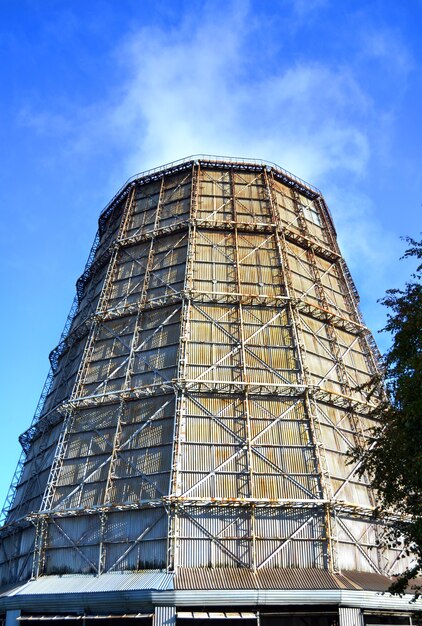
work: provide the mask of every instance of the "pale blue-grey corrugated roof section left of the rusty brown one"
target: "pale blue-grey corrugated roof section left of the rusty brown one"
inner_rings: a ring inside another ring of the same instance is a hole
[[[109,572],[101,576],[63,575],[41,576],[19,589],[8,593],[16,595],[42,595],[60,593],[99,593],[101,591],[165,591],[173,589],[173,574],[156,570],[145,572]]]

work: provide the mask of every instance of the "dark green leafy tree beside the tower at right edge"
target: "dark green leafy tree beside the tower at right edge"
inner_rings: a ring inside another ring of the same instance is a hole
[[[394,523],[387,536],[416,559],[390,588],[399,594],[422,572],[422,241],[406,241],[403,258],[418,259],[418,267],[403,290],[390,289],[382,300],[390,310],[383,330],[392,334],[392,346],[383,359],[386,393],[372,411],[380,420],[371,433],[376,443],[354,454],[362,462],[359,473],[368,473],[378,491],[381,509],[411,519]],[[379,382],[373,379],[370,394]],[[414,583],[412,588],[416,595],[422,590]]]

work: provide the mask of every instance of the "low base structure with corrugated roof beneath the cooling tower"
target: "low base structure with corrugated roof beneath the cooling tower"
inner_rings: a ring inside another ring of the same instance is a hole
[[[46,576],[6,591],[0,611],[6,626],[412,626],[419,601],[392,596],[390,583],[303,570]]]

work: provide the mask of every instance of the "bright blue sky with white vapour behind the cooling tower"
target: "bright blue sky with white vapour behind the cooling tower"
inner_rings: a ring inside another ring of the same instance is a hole
[[[0,499],[101,209],[190,154],[319,187],[377,304],[421,231],[421,0],[0,0]]]

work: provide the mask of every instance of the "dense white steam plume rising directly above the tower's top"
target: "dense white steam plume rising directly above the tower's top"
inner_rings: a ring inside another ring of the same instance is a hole
[[[131,142],[130,171],[195,153],[266,158],[309,179],[362,171],[369,143],[356,118],[369,105],[352,74],[298,62],[255,78],[251,35],[237,5],[223,22],[142,29],[126,43],[130,77],[107,123]]]

